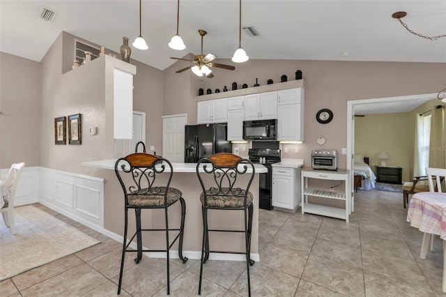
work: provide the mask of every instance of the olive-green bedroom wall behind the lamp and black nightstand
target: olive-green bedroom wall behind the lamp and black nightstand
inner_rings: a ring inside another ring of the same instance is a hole
[[[403,168],[403,181],[410,181],[413,168],[415,122],[410,112],[367,114],[355,119],[355,153],[369,157],[369,165],[376,173],[380,165],[378,154],[390,155],[389,166]]]

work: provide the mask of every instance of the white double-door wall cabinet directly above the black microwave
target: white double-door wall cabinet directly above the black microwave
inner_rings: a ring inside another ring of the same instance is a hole
[[[245,121],[277,119],[277,91],[245,95]]]

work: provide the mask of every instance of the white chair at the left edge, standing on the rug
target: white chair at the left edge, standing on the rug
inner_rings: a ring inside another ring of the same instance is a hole
[[[3,199],[4,204],[1,206],[1,214],[3,215],[3,220],[7,227],[10,227],[13,234],[17,234],[14,224],[14,198],[15,189],[17,188],[17,183],[19,182],[20,175],[22,175],[22,170],[25,167],[25,163],[21,162],[18,164],[13,164],[6,176],[6,180],[1,181],[2,187],[6,189],[6,195],[3,195],[0,199]],[[2,191],[3,192],[3,191]]]

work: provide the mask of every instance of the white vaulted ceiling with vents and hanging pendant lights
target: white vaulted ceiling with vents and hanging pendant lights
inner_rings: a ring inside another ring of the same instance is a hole
[[[204,54],[230,59],[238,47],[238,0],[180,0],[179,34],[186,49],[171,50],[176,0],[142,1],[142,36],[149,49],[132,48],[132,58],[164,70],[188,53],[200,53],[198,29],[205,29]],[[40,18],[41,8],[56,15]],[[243,0],[242,32],[250,59],[410,61],[446,63],[446,38],[427,40],[409,33],[446,34],[446,1]],[[138,0],[0,1],[0,51],[40,61],[61,31],[118,52],[122,37],[139,35]],[[343,54],[348,52],[349,54]]]

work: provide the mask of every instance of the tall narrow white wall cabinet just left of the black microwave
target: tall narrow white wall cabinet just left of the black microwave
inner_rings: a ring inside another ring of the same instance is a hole
[[[243,120],[245,119],[245,96],[228,98],[227,139],[243,140]]]

